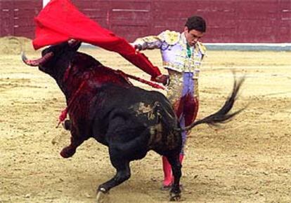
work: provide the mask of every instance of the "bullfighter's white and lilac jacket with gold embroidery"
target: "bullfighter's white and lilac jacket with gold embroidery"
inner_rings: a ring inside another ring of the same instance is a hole
[[[169,30],[158,36],[137,38],[132,44],[141,46],[141,50],[159,48],[165,69],[191,72],[194,73],[193,78],[198,78],[201,61],[206,52],[205,46],[198,42],[194,47],[190,47],[189,56],[185,34]]]

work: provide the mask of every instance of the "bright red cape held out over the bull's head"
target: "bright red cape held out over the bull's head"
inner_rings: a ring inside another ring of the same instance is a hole
[[[150,74],[152,78],[161,74],[145,55],[136,53],[124,38],[86,17],[69,0],[51,0],[34,20],[37,27],[36,38],[32,43],[36,50],[75,38],[105,50],[118,52],[129,62]]]

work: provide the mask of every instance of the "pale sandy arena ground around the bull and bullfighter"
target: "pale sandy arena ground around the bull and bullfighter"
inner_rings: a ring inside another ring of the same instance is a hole
[[[22,64],[19,51],[0,52],[0,202],[95,202],[97,186],[115,174],[107,148],[91,139],[72,158],[60,157],[70,139],[56,128],[63,94],[52,78]],[[82,51],[149,78],[115,53]],[[159,52],[145,54],[160,66]],[[291,202],[290,68],[291,52],[208,52],[198,118],[224,103],[231,70],[247,77],[235,109],[249,106],[220,128],[200,125],[190,134],[183,202]],[[112,189],[108,202],[167,202],[169,194],[160,190],[161,167],[154,152],[131,162],[131,179]]]

